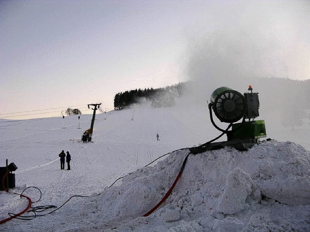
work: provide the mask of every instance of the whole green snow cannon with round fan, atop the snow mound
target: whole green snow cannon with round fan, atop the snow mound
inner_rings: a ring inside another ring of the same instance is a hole
[[[253,88],[241,94],[229,87],[219,87],[213,91],[208,104],[210,119],[213,126],[227,135],[227,141],[211,143],[207,142],[198,147],[190,148],[194,154],[219,149],[224,146],[234,146],[237,150],[248,150],[252,145],[258,144],[259,139],[266,137],[264,120],[254,120],[259,116],[260,102],[258,93],[253,93]],[[229,123],[224,130],[217,126],[213,115],[217,116],[220,122]],[[237,123],[239,120],[241,122]],[[214,140],[212,140],[214,141]]]

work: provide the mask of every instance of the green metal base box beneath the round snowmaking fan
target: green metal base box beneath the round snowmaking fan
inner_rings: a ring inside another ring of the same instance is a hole
[[[234,123],[232,126],[231,136],[234,139],[258,139],[266,137],[266,128],[264,120],[251,122]],[[238,128],[240,126],[240,128]],[[238,129],[237,129],[238,128]],[[237,129],[237,130],[236,130]]]

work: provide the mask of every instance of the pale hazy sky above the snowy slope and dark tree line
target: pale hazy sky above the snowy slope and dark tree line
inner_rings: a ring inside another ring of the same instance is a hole
[[[199,80],[198,67],[309,79],[309,12],[306,0],[0,0],[0,117],[111,110],[118,92]]]

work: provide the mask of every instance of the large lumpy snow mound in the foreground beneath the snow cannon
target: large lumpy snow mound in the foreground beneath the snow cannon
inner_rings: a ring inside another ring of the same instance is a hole
[[[171,196],[141,217],[171,187],[187,153],[93,194],[74,215],[77,231],[310,231],[310,152],[292,142],[190,155]]]

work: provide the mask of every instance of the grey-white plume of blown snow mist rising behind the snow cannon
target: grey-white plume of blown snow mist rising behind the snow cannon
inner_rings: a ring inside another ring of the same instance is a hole
[[[191,80],[190,102],[205,110],[217,87],[243,93],[252,85],[260,93],[259,119],[265,120],[268,136],[287,127],[285,122],[294,128],[295,118],[303,120],[304,115],[295,113],[309,106],[302,101],[310,99],[306,89],[310,85],[310,2],[207,4],[204,18],[187,31],[184,73]],[[303,85],[306,82],[294,80],[309,81]]]

